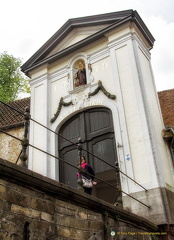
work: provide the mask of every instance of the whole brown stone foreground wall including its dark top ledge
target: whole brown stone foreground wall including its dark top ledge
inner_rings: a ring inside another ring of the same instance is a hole
[[[3,159],[0,172],[0,240],[114,240],[133,234],[145,240],[145,233],[158,231],[120,207]]]

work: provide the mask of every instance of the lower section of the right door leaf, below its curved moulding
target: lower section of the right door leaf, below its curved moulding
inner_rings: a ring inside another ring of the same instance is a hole
[[[94,155],[105,160],[112,166],[115,166],[117,158],[115,157],[115,140],[113,137],[113,133],[108,133],[93,139],[89,143],[89,149],[89,151],[92,152]],[[112,184],[115,187],[117,186],[115,169],[113,169],[111,166],[102,162],[96,157],[93,157],[91,165],[93,165],[94,167],[96,181],[98,182],[97,186],[94,188],[93,194],[100,199],[103,199],[110,203],[114,203],[117,190],[111,187],[109,184]],[[109,184],[104,183],[99,179]]]

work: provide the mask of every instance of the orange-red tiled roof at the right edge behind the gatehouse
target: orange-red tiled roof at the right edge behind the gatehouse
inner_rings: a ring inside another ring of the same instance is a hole
[[[166,127],[174,127],[174,89],[158,92],[161,112]]]

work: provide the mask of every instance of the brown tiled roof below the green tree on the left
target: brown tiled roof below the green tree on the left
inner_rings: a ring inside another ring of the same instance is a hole
[[[24,113],[25,108],[30,107],[30,97],[9,102],[7,104]],[[0,127],[3,129],[19,127],[24,123],[24,116],[12,108],[0,103]]]

